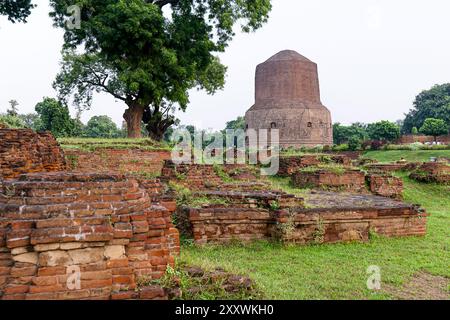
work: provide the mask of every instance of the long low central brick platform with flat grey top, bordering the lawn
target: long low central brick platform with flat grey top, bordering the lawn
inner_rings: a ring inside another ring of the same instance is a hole
[[[371,232],[383,236],[423,236],[426,213],[412,205],[384,197],[315,192],[307,207],[277,210],[230,204],[184,210],[191,235],[198,244],[276,239],[286,243],[367,241]],[[186,226],[186,225],[185,225]]]

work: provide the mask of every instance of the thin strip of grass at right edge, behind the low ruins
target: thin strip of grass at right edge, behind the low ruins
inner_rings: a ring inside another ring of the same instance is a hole
[[[388,151],[367,151],[364,158],[375,159],[379,162],[394,162],[401,158],[407,161],[425,162],[431,157],[450,158],[450,150],[388,150]]]

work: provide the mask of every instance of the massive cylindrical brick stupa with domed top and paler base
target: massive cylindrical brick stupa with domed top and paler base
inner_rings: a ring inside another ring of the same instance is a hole
[[[317,64],[285,50],[256,67],[248,129],[279,129],[280,147],[333,144],[330,111],[320,101]]]

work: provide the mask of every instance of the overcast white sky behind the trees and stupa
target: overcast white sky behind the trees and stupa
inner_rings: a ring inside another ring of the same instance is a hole
[[[34,2],[28,24],[0,18],[0,112],[11,99],[27,113],[55,96],[62,32],[52,27],[48,1]],[[322,102],[334,122],[401,119],[421,90],[450,82],[449,15],[448,0],[274,0],[269,22],[238,33],[220,56],[229,67],[225,89],[214,96],[193,90],[179,117],[222,129],[253,104],[256,65],[292,49],[318,63]],[[124,110],[97,95],[82,120],[107,114],[120,124]]]

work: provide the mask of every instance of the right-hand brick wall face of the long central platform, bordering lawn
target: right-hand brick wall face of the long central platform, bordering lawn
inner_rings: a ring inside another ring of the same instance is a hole
[[[270,226],[273,237],[299,244],[367,241],[370,232],[388,237],[426,234],[426,213],[412,206],[280,211],[275,221]]]

